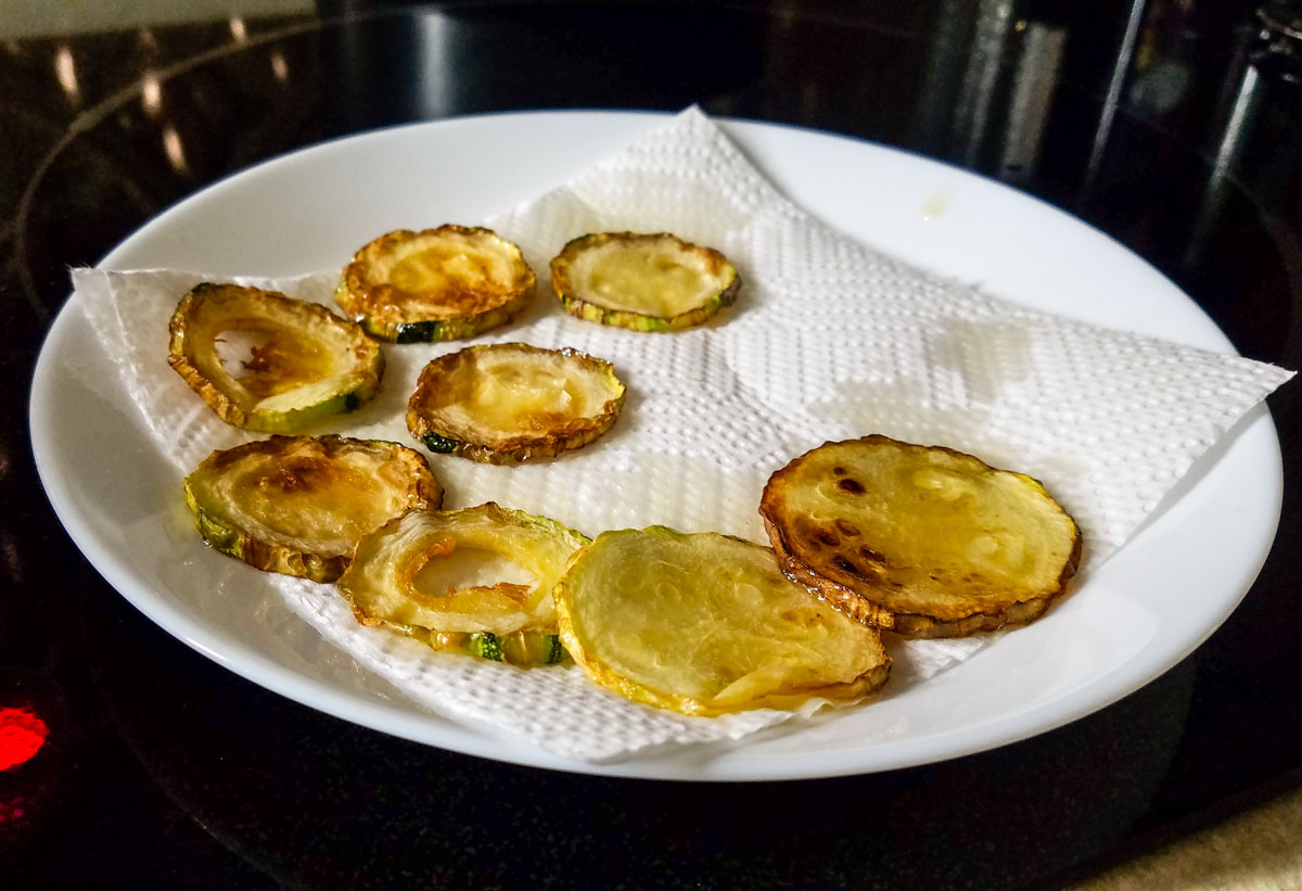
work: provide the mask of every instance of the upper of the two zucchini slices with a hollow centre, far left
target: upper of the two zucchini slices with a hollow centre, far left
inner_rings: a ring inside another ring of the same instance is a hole
[[[293,432],[375,396],[384,353],[361,327],[275,290],[206,281],[172,314],[168,362],[223,421]]]

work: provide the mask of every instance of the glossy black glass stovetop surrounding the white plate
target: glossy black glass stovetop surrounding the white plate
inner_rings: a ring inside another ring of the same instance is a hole
[[[695,103],[969,168],[1100,228],[1243,356],[1297,369],[1290,4],[286,3],[109,22],[64,5],[0,14],[0,857],[16,887],[1055,887],[1302,779],[1295,384],[1268,401],[1275,546],[1193,655],[1022,742],[781,783],[534,770],[270,693],[100,578],[27,434],[69,267],[294,148],[548,108]]]

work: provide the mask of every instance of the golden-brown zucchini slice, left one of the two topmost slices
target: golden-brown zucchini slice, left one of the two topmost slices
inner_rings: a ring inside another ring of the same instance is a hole
[[[335,301],[370,333],[400,344],[456,340],[495,328],[534,298],[519,248],[491,229],[400,229],[363,246]]]

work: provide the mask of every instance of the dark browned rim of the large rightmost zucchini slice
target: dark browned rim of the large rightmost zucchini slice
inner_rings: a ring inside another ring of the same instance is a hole
[[[893,443],[915,449],[948,452],[967,460],[979,460],[953,448],[943,446],[911,446],[909,443],[898,443],[879,434],[849,442]],[[842,443],[824,443],[824,446],[840,444]],[[980,632],[1025,625],[1040,617],[1048,610],[1049,604],[1066,591],[1069,581],[1079,567],[1083,543],[1079,528],[1073,522],[1075,534],[1072,552],[1059,574],[1053,590],[1017,601],[1000,610],[982,610],[978,604],[966,602],[949,604],[945,610],[948,615],[940,615],[939,610],[936,615],[893,611],[883,603],[883,599],[887,599],[884,597],[887,593],[883,589],[871,585],[867,580],[863,580],[858,585],[850,585],[845,580],[828,578],[802,560],[798,548],[793,546],[792,530],[788,522],[792,511],[783,495],[783,483],[785,482],[785,475],[789,475],[801,460],[815,451],[818,449],[810,449],[769,477],[760,496],[759,513],[764,521],[764,529],[768,531],[769,542],[773,546],[773,552],[777,555],[779,565],[783,567],[783,572],[792,580],[816,591],[820,597],[858,621],[893,630],[906,637],[927,638],[967,637]],[[1027,477],[1027,479],[1032,478]],[[1034,482],[1043,490],[1043,485],[1039,481]]]

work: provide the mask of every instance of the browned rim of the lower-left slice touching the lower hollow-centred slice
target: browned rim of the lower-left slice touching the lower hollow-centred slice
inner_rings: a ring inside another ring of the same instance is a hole
[[[328,464],[345,451],[357,448],[383,449],[385,456],[385,477],[397,485],[401,481],[408,487],[410,505],[437,511],[443,505],[443,486],[430,470],[428,462],[415,449],[398,443],[383,440],[359,440],[328,434],[324,436],[271,436],[268,439],[243,443],[234,448],[217,449],[208,455],[195,473],[203,470],[220,473],[238,464],[250,455],[286,455],[290,452],[316,452],[323,464]],[[195,522],[204,543],[214,550],[243,560],[264,572],[279,572],[285,576],[310,578],[318,582],[332,582],[339,578],[353,555],[324,554],[306,548],[296,548],[280,542],[256,538],[250,531],[237,526],[220,512],[206,508],[198,502],[190,485],[185,481],[185,500],[195,515]]]

